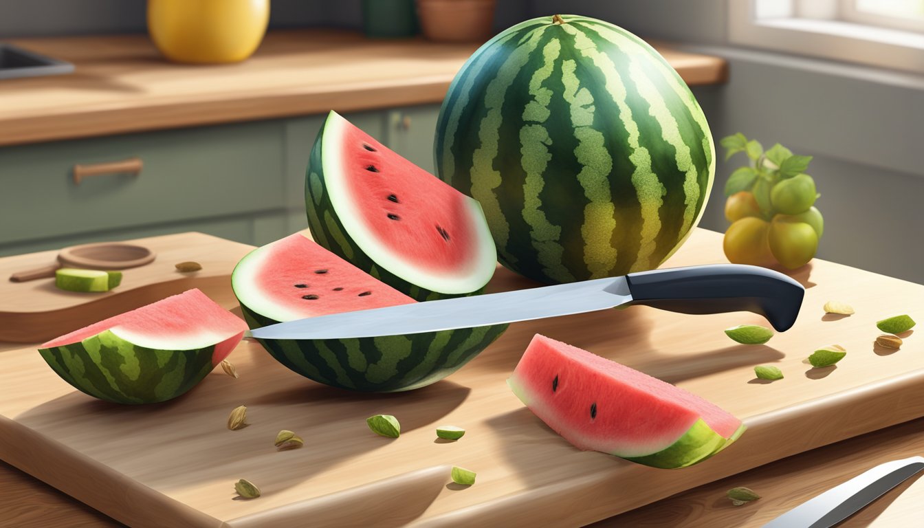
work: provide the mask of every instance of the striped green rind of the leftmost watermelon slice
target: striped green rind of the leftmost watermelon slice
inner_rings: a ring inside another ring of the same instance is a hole
[[[115,403],[174,399],[212,372],[215,347],[154,350],[105,330],[77,343],[39,349],[45,362],[71,386]]]

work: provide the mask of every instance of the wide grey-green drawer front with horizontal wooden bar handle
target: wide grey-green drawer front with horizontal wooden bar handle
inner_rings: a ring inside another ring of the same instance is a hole
[[[0,244],[284,209],[283,122],[0,148]],[[138,158],[139,174],[74,166]],[[243,234],[242,234],[243,236]],[[78,238],[73,238],[78,239]]]

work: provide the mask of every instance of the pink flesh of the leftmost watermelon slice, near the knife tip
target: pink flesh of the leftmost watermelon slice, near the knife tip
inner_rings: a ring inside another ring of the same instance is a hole
[[[212,364],[222,362],[237,346],[247,325],[199,289],[84,326],[40,346],[51,349],[79,343],[105,330],[140,347],[155,350],[196,350],[214,345]]]

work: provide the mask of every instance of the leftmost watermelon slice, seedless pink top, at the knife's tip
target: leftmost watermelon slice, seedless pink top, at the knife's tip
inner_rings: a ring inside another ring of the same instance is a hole
[[[75,330],[40,346],[67,383],[116,403],[174,399],[198,384],[247,325],[199,289]]]

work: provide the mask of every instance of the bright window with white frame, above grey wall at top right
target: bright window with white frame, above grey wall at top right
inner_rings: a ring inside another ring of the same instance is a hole
[[[729,40],[924,73],[924,0],[728,0]]]

